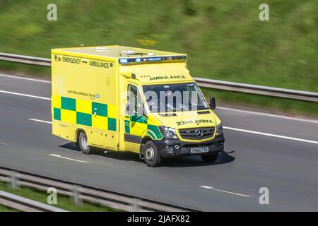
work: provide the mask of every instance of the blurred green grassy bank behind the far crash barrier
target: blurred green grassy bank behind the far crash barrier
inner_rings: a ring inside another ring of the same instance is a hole
[[[50,3],[57,21],[47,20]],[[49,57],[53,47],[80,44],[146,47],[187,53],[193,76],[318,92],[318,1],[267,0],[269,21],[259,20],[262,3],[0,0],[0,52]],[[49,75],[4,61],[0,69]]]

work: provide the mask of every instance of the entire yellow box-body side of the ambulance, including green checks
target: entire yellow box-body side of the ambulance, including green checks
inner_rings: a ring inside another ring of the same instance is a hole
[[[114,59],[52,51],[52,121],[69,125],[69,136],[63,138],[73,140],[76,130],[85,128],[88,142],[96,146],[106,142],[107,147],[117,148],[117,70]],[[94,106],[99,109],[96,117]],[[59,136],[58,133],[55,128],[54,134]]]

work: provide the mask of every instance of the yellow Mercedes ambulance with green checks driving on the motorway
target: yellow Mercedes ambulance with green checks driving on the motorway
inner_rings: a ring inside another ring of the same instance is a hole
[[[84,154],[102,148],[162,158],[223,150],[215,100],[206,101],[187,55],[123,46],[52,49],[52,133]]]

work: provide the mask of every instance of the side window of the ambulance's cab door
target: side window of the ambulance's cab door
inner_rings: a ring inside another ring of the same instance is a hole
[[[138,88],[135,85],[128,85],[126,114],[143,115],[143,102]]]

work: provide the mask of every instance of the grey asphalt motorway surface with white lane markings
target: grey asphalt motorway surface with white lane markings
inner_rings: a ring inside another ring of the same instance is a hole
[[[225,151],[215,164],[182,157],[150,168],[133,153],[83,155],[52,136],[50,85],[0,75],[1,167],[196,210],[318,211],[318,121],[218,108]]]

